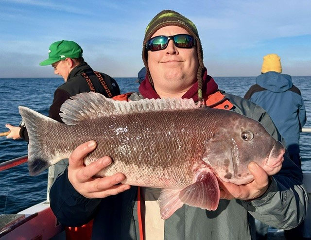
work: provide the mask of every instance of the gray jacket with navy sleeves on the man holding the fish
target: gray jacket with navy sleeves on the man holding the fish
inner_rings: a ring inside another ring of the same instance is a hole
[[[269,115],[258,105],[225,94],[234,104],[232,111],[258,120],[276,139],[281,136]],[[139,93],[130,100],[141,99]],[[68,163],[68,161],[67,161]],[[104,199],[87,199],[69,183],[66,161],[55,166],[57,179],[51,187],[51,207],[58,220],[78,226],[94,218],[93,240],[139,239],[137,190],[131,189]],[[290,229],[305,217],[308,202],[301,170],[284,155],[281,171],[274,175],[267,192],[253,201],[220,200],[215,211],[183,205],[165,220],[165,240],[246,240],[256,239],[254,218],[276,228]]]

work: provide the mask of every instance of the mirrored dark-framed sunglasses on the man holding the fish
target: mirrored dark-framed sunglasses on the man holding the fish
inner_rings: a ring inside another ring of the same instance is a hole
[[[147,51],[159,51],[166,49],[169,41],[173,40],[177,48],[192,48],[195,46],[194,37],[189,34],[177,34],[173,36],[155,36],[147,42]]]

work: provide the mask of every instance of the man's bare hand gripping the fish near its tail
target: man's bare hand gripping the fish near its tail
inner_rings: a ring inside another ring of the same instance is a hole
[[[92,152],[96,145],[95,141],[83,143],[69,156],[68,178],[74,189],[86,198],[105,198],[130,189],[126,184],[116,185],[125,179],[122,173],[94,178],[94,175],[112,162],[109,156],[104,156],[88,166],[84,165],[83,158]]]

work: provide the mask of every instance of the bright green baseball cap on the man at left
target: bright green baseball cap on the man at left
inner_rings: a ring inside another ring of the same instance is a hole
[[[83,50],[73,41],[61,40],[53,42],[49,48],[49,58],[39,63],[41,66],[50,65],[60,60],[82,57]]]

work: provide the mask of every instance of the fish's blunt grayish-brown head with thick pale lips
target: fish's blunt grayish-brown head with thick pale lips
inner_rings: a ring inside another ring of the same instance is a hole
[[[256,120],[230,114],[204,142],[203,161],[225,182],[238,185],[253,180],[250,162],[274,168],[282,164],[285,148]]]

